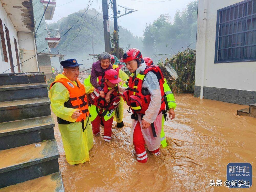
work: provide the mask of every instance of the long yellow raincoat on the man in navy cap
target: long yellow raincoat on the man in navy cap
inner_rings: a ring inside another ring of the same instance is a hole
[[[56,80],[61,78],[67,79],[64,74],[58,74],[58,76],[56,76]],[[75,81],[72,82],[76,84]],[[93,135],[90,121],[83,132],[81,128],[82,123],[76,122],[76,119],[71,118],[76,109],[64,107],[64,103],[69,99],[69,92],[62,83],[57,82],[52,86],[49,91],[49,98],[51,100],[51,108],[54,114],[61,119],[73,122],[70,124],[59,124],[67,162],[74,165],[90,161],[89,151],[93,146]],[[87,118],[85,122],[87,122]]]

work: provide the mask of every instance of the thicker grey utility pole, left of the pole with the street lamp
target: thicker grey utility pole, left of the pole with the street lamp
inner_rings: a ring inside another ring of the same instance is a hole
[[[104,28],[105,51],[110,53],[110,31],[109,31],[109,14],[108,14],[108,0],[102,0],[102,15]]]

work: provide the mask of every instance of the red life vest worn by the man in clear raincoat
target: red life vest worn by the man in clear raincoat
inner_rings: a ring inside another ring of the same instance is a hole
[[[160,85],[162,101],[158,114],[165,110],[165,94],[163,87],[164,75],[159,66],[147,66],[146,69],[137,74],[136,77],[133,77],[131,75],[129,78],[129,104],[133,113],[135,111],[137,113],[145,114],[146,110],[148,109],[149,103],[151,101],[151,95],[146,88],[142,88],[142,84],[144,82],[146,74],[149,71],[152,71],[156,74]]]

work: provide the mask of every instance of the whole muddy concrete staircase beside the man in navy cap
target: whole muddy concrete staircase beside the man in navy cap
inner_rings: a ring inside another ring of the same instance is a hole
[[[43,72],[0,74],[0,192],[64,191],[47,86]]]

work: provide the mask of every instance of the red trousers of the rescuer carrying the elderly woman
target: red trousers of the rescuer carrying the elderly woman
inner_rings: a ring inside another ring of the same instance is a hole
[[[92,132],[94,135],[97,135],[100,133],[100,122],[102,120],[104,125],[104,140],[107,142],[111,141],[111,135],[112,135],[112,123],[113,123],[114,117],[111,117],[109,120],[105,121],[104,117],[97,115],[97,117],[92,121]]]

